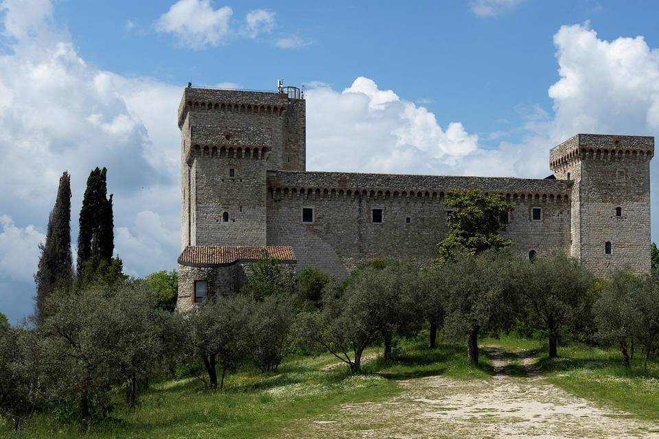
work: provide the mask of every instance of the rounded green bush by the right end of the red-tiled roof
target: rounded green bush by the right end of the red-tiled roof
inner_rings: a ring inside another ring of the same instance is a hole
[[[289,296],[294,289],[293,271],[266,252],[251,265],[241,292],[253,300],[261,301],[267,296]]]

